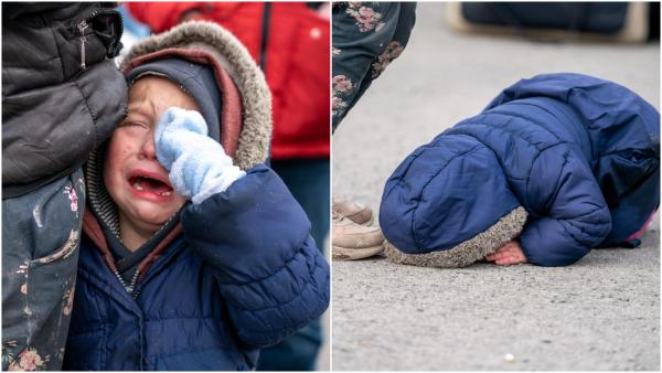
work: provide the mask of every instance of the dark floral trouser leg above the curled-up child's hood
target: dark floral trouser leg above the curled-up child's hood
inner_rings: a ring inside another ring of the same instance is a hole
[[[415,2],[333,4],[333,131],[372,81],[404,51],[415,21]]]

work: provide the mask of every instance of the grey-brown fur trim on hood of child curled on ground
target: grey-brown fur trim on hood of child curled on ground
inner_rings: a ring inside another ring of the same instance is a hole
[[[526,211],[516,207],[503,216],[496,224],[479,233],[469,241],[442,252],[426,254],[406,254],[384,242],[388,260],[421,267],[458,268],[466,267],[482,259],[485,255],[494,253],[506,242],[517,237],[526,223]]]

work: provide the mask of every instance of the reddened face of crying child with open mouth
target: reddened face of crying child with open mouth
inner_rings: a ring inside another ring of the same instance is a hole
[[[110,137],[104,181],[119,219],[139,231],[156,232],[185,202],[170,185],[154,150],[154,130],[169,107],[199,110],[195,102],[167,78],[146,76],[129,90],[129,115]]]

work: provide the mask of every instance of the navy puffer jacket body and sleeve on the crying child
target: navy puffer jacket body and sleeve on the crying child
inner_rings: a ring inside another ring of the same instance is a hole
[[[182,225],[136,299],[84,237],[65,370],[249,370],[327,309],[329,265],[268,168],[189,205]]]

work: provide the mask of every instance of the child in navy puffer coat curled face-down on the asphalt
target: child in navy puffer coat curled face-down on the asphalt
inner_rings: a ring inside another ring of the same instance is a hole
[[[618,84],[520,81],[386,181],[387,257],[566,266],[591,248],[637,247],[660,203],[659,147],[660,114]]]

